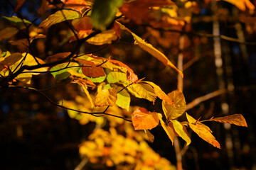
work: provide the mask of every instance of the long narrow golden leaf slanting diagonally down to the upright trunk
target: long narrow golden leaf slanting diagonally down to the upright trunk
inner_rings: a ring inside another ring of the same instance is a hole
[[[117,22],[118,23],[118,22]],[[126,28],[125,26],[123,26],[121,23],[118,23],[120,28],[122,30],[127,30],[129,33],[132,34],[132,36],[134,37],[135,42],[137,43],[137,45],[139,45],[139,47],[141,47],[143,50],[145,50],[146,52],[149,52],[149,54],[153,55],[154,57],[156,57],[157,60],[159,60],[160,62],[164,63],[166,66],[172,67],[173,69],[176,69],[176,71],[181,74],[181,77],[183,77],[183,73],[181,72],[181,70],[177,69],[174,64],[172,64],[170,62],[170,60],[159,50],[157,50],[155,47],[153,47],[151,44],[145,42],[144,40],[142,40],[142,38],[140,38],[138,35],[132,33],[131,30],[129,30],[128,28]]]

